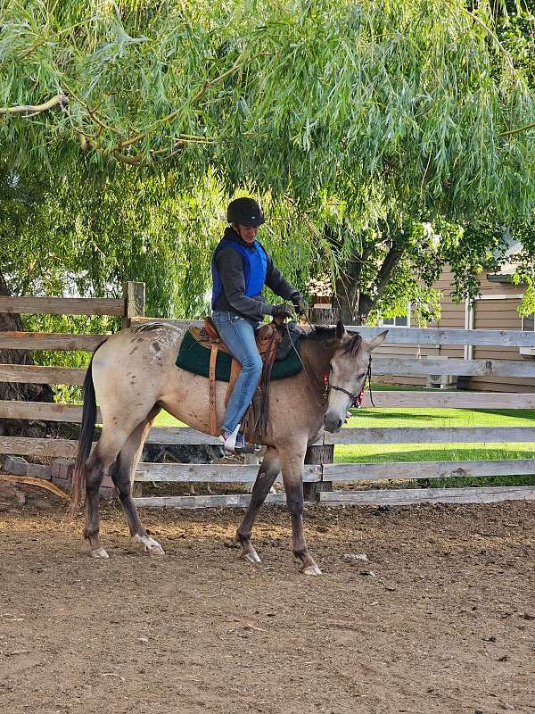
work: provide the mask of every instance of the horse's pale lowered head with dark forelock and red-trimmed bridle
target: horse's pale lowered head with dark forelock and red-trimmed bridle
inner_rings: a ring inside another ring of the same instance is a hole
[[[371,353],[382,345],[388,330],[374,337],[371,342],[363,340],[358,332],[346,332],[342,322],[336,326],[339,342],[333,354],[329,371],[329,395],[324,426],[327,431],[340,431],[346,411],[356,402],[370,364]]]

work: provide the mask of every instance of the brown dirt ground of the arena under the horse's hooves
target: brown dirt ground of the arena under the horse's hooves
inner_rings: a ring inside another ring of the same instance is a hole
[[[81,517],[24,494],[0,512],[1,714],[535,712],[535,503],[309,508],[305,577],[283,509],[257,568],[242,511],[144,511],[153,559],[115,504],[93,560]]]

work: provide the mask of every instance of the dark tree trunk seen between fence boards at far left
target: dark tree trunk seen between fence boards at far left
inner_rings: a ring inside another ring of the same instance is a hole
[[[0,273],[0,295],[11,295],[2,273]],[[21,316],[0,312],[0,331],[21,332]],[[0,349],[0,363],[33,364],[33,360],[27,352]],[[16,399],[23,402],[53,402],[53,391],[48,385],[0,382],[0,399]],[[5,436],[43,436],[45,434],[45,424],[38,421],[9,419],[0,425],[0,432]]]

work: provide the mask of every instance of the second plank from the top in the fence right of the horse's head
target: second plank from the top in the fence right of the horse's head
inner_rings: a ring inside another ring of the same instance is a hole
[[[374,357],[373,374],[413,375],[452,374],[473,377],[535,378],[535,361],[459,360],[456,358]]]

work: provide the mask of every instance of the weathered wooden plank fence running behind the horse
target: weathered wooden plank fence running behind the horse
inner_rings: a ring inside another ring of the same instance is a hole
[[[115,315],[123,326],[150,320],[144,318],[144,286],[128,283],[122,300],[74,298],[0,297],[0,312],[43,314]],[[185,320],[160,320],[176,325]],[[356,328],[370,339],[383,328]],[[0,348],[22,350],[88,350],[92,351],[105,336],[53,335],[45,333],[0,332]],[[535,347],[535,333],[504,330],[462,330],[391,328],[389,345],[498,345]],[[375,357],[374,376],[396,375],[489,375],[535,378],[535,359],[459,360],[445,358]],[[0,364],[0,381],[80,385],[85,369],[37,367]],[[377,407],[414,407],[425,410],[437,407],[457,409],[535,409],[535,394],[465,393],[440,390],[423,392],[375,392]],[[366,394],[363,406],[370,406]],[[42,419],[81,421],[81,408],[69,404],[1,402],[0,419]],[[325,434],[318,445],[328,444],[492,444],[535,443],[533,427],[510,428],[344,428],[335,435]],[[213,436],[190,428],[152,428],[149,444],[218,444]],[[38,439],[0,436],[0,453],[35,457],[74,457],[77,444],[65,439]],[[140,463],[136,482],[243,484],[255,480],[258,466],[235,464]],[[482,477],[535,475],[535,459],[491,461],[417,461],[384,463],[325,463],[305,466],[304,482],[309,499],[330,504],[340,503],[417,503],[417,502],[493,502],[506,499],[535,499],[535,486],[478,488],[381,488],[348,491],[337,484],[384,480],[422,480],[444,477]],[[197,508],[205,506],[244,506],[248,494],[210,496],[140,497],[138,505]],[[268,496],[268,502],[284,502],[284,494]]]

